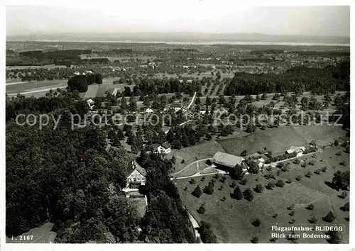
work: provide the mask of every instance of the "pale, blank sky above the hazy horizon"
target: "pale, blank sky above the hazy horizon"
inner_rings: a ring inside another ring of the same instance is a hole
[[[62,3],[62,1],[60,1]],[[264,33],[350,35],[349,6],[239,6],[237,1],[127,0],[92,6],[6,6],[6,35],[57,33]]]

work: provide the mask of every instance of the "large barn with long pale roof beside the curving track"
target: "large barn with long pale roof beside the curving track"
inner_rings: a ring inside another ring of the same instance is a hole
[[[229,169],[239,164],[246,171],[247,165],[243,157],[230,155],[226,152],[216,152],[212,158],[212,162],[218,169],[229,171]]]

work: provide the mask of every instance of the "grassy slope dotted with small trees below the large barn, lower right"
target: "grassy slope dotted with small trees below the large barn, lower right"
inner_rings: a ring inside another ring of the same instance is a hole
[[[197,184],[204,188],[207,186],[209,180],[214,177],[205,177],[202,182],[201,178],[195,178],[196,184],[191,185],[190,179],[177,180],[175,183],[178,186],[180,195],[182,197],[182,203],[192,213],[197,221],[207,221],[212,224],[212,229],[217,235],[219,242],[250,242],[254,236],[258,237],[259,242],[270,243],[271,233],[275,231],[271,230],[272,225],[278,226],[292,226],[289,221],[295,218],[295,226],[312,227],[315,224],[308,222],[310,215],[314,213],[317,218],[316,225],[342,225],[344,227],[341,232],[343,241],[349,242],[349,222],[345,218],[349,217],[349,212],[341,211],[339,208],[349,201],[349,197],[346,199],[340,199],[338,195],[340,191],[331,189],[324,182],[332,180],[332,176],[337,169],[349,170],[349,155],[343,153],[342,157],[336,156],[335,152],[344,150],[344,147],[328,147],[322,152],[317,153],[316,164],[309,167],[300,167],[300,165],[290,164],[290,172],[280,174],[277,179],[291,179],[291,184],[285,184],[283,188],[275,187],[273,190],[264,189],[260,194],[254,192],[253,201],[249,202],[245,199],[240,201],[232,199],[230,194],[233,192],[229,184],[232,180],[227,177],[226,182],[222,183],[219,179],[216,179],[214,185],[214,193],[212,195],[202,194],[200,198],[192,196],[191,192]],[[335,157],[334,157],[335,156]],[[302,158],[301,158],[302,159]],[[307,157],[307,160],[312,157]],[[346,161],[346,166],[340,166],[337,164],[340,160]],[[304,177],[304,174],[308,171],[314,171],[322,165],[327,165],[327,172],[322,172],[320,175],[313,174],[312,177]],[[334,165],[335,169],[330,166]],[[305,170],[307,169],[307,170]],[[276,171],[276,170],[274,170]],[[263,173],[268,172],[264,171]],[[295,177],[301,174],[303,178],[300,182],[295,181]],[[253,189],[256,184],[261,183],[265,186],[270,180],[262,177],[260,174],[249,174],[246,176],[247,184],[241,185],[236,182],[241,191],[246,188]],[[223,186],[222,190],[219,190],[220,186]],[[185,188],[187,187],[186,191]],[[222,197],[225,196],[226,200],[222,201]],[[205,203],[206,209],[204,214],[197,213],[202,203]],[[307,210],[305,207],[312,203],[314,210]],[[295,205],[295,215],[290,216],[291,212],[288,210],[288,206]],[[322,217],[326,216],[329,211],[333,211],[336,216],[336,220],[332,223],[326,223],[322,220]],[[278,214],[276,218],[273,218],[275,214]],[[261,225],[255,227],[251,224],[253,220],[259,218]],[[281,232],[278,232],[281,233]],[[298,232],[304,233],[304,232]],[[305,232],[323,234],[324,232]],[[289,243],[289,240],[278,239],[275,242]],[[300,243],[327,243],[324,239],[305,239],[300,238],[297,242]]]

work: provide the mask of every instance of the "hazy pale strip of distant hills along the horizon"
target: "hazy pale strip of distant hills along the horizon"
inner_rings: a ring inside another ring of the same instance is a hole
[[[6,41],[97,42],[264,42],[349,44],[346,36],[267,35],[261,33],[63,33],[8,35]]]

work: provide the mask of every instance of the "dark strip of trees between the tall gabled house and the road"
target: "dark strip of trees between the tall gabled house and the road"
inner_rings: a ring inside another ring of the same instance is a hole
[[[143,160],[147,170],[144,189],[150,198],[141,222],[143,232],[152,242],[195,242],[178,189],[168,177],[168,165],[171,166],[169,160],[164,161],[153,153],[148,155],[148,160]]]

